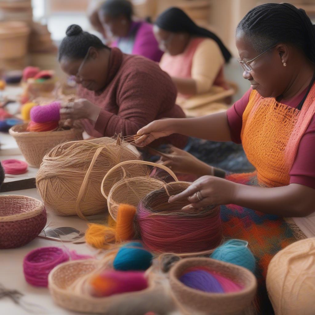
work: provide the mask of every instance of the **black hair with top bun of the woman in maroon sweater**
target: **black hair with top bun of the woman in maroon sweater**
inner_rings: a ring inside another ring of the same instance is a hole
[[[66,35],[59,46],[59,61],[63,57],[69,59],[83,59],[90,47],[109,49],[109,47],[102,43],[100,38],[88,32],[84,32],[82,28],[76,24],[72,24],[67,28]]]

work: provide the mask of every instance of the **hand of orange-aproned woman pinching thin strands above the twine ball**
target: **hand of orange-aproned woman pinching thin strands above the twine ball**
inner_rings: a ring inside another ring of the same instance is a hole
[[[176,133],[175,120],[173,118],[155,120],[142,127],[137,132],[137,135],[141,136],[135,140],[135,145],[140,147],[147,146],[154,140]]]

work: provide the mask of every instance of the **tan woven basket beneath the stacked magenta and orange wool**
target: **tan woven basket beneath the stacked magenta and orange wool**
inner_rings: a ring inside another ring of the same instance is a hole
[[[82,129],[64,131],[27,132],[27,123],[13,126],[9,133],[18,144],[26,162],[31,167],[39,167],[43,157],[55,146],[68,142],[82,140]]]

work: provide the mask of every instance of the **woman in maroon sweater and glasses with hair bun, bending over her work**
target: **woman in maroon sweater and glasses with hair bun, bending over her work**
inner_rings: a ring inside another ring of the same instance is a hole
[[[61,118],[81,119],[91,136],[112,137],[135,135],[156,119],[185,117],[175,105],[174,83],[153,61],[110,49],[78,25],[69,26],[66,35],[59,62],[79,84],[79,99],[62,106]],[[155,145],[186,142],[186,136],[172,135]]]

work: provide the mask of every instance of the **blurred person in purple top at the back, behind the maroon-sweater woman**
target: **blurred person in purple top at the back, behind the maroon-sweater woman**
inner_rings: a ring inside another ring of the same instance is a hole
[[[154,37],[152,25],[133,20],[132,3],[127,0],[107,0],[99,9],[99,19],[108,38],[115,38],[112,47],[125,54],[144,56],[160,61],[163,52]]]

